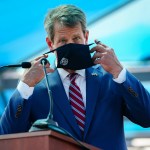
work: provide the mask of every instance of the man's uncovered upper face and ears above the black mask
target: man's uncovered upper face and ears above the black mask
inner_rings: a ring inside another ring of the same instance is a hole
[[[68,43],[87,44],[88,31],[84,34],[80,23],[74,27],[66,27],[55,23],[54,40],[53,42],[50,41],[50,44],[48,43],[49,47],[53,50]]]

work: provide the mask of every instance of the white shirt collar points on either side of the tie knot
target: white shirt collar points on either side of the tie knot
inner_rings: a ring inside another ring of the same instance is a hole
[[[67,72],[63,68],[57,68],[57,70],[58,70],[61,80],[64,81],[65,78],[69,75],[69,72]],[[75,72],[85,78],[85,69],[76,70]]]

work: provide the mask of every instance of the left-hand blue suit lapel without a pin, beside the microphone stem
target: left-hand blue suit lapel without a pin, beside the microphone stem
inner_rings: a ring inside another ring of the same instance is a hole
[[[73,130],[75,130],[75,133],[81,137],[80,129],[76,123],[68,97],[57,70],[49,76],[49,83],[53,94],[54,104],[58,106],[67,122],[71,125]]]

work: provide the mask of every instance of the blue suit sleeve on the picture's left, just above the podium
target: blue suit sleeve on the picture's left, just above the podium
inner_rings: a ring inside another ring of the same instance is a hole
[[[0,120],[0,134],[26,132],[31,126],[30,107],[31,101],[22,99],[16,90]]]

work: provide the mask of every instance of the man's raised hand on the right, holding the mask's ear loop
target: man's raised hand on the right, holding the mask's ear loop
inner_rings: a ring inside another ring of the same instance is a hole
[[[92,57],[94,64],[100,64],[107,72],[113,75],[113,78],[117,78],[123,67],[118,61],[114,50],[97,40],[95,40],[95,43],[97,46],[91,49],[91,52],[95,52]]]

